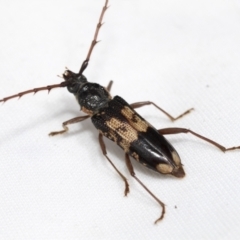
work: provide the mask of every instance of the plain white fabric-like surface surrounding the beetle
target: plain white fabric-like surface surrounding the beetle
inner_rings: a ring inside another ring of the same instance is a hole
[[[59,83],[78,71],[104,0],[2,1],[0,97]],[[186,127],[230,147],[240,145],[240,1],[111,0],[101,42],[85,71],[156,128]],[[134,164],[166,203],[166,215],[129,176],[122,150],[106,141],[123,182],[102,156],[91,121],[48,137],[80,115],[66,89],[0,106],[1,239],[236,239],[240,234],[240,151],[223,154],[191,137],[168,137],[185,167],[182,180]],[[176,208],[175,208],[176,206]]]

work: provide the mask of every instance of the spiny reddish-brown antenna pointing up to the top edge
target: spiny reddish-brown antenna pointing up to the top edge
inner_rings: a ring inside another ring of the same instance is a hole
[[[93,37],[91,46],[90,46],[90,48],[88,50],[87,58],[82,63],[82,66],[81,66],[81,68],[79,70],[79,74],[80,75],[82,75],[83,71],[87,68],[88,62],[90,60],[90,57],[91,57],[91,54],[92,54],[92,51],[93,51],[93,48],[98,43],[97,37],[98,37],[99,30],[100,30],[101,26],[103,25],[102,20],[103,20],[104,13],[108,9],[107,5],[108,5],[108,0],[106,0],[105,5],[104,5],[104,7],[102,9],[102,12],[101,12],[101,15],[100,15],[100,18],[99,18],[99,21],[98,21],[98,24],[97,24],[97,27],[96,27],[96,30],[95,30],[95,33],[94,33],[94,37]]]

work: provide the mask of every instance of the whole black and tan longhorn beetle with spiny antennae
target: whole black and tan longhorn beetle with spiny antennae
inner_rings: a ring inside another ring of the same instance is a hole
[[[124,150],[125,162],[131,176],[135,178],[136,181],[161,206],[160,217],[155,221],[155,223],[157,223],[164,217],[165,204],[159,198],[157,198],[136,176],[130,160],[130,156],[144,166],[158,173],[170,174],[177,178],[182,178],[185,176],[185,172],[183,170],[180,157],[174,147],[165,139],[163,135],[191,133],[192,135],[216,146],[223,152],[240,149],[240,146],[225,148],[219,143],[186,128],[165,128],[157,130],[144,118],[142,118],[134,109],[146,105],[153,105],[172,121],[183,117],[192,109],[189,109],[183,114],[174,118],[158,105],[150,101],[129,104],[119,96],[112,98],[110,95],[110,90],[113,84],[112,81],[109,82],[106,88],[97,83],[91,83],[87,81],[87,78],[83,75],[83,72],[87,68],[92,51],[98,42],[98,33],[102,26],[103,16],[107,8],[108,0],[105,0],[105,5],[101,11],[99,22],[95,29],[94,38],[88,50],[87,57],[83,61],[78,73],[74,73],[67,69],[62,75],[64,81],[59,84],[48,85],[46,87],[39,87],[32,90],[20,92],[12,96],[5,97],[1,99],[0,102],[4,103],[12,98],[20,98],[28,93],[35,94],[43,90],[50,92],[53,88],[67,87],[68,91],[75,96],[76,100],[81,106],[81,110],[86,113],[86,115],[78,116],[66,122],[63,122],[63,130],[51,132],[49,135],[55,136],[57,134],[66,133],[68,131],[68,125],[91,118],[93,125],[99,131],[98,140],[103,155],[106,157],[106,159],[113,166],[113,168],[125,183],[125,196],[129,193],[129,185],[127,179],[108,157],[103,136],[112,140]]]

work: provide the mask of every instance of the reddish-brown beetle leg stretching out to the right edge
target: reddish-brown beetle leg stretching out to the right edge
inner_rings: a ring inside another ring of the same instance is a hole
[[[209,138],[206,138],[196,132],[193,132],[187,128],[164,128],[164,129],[159,129],[158,130],[159,133],[165,135],[165,134],[178,134],[178,133],[191,133],[192,135],[198,137],[198,138],[201,138],[202,140],[206,141],[206,142],[209,142],[210,144],[216,146],[217,148],[219,148],[220,150],[222,150],[223,152],[226,152],[226,151],[231,151],[231,150],[235,150],[235,149],[240,149],[240,146],[237,146],[237,147],[230,147],[230,148],[226,148],[224,146],[222,146],[221,144],[209,139]]]

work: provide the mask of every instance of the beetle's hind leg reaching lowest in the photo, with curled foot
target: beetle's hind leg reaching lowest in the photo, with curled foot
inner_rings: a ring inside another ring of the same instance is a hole
[[[127,165],[127,168],[128,168],[128,170],[129,170],[131,176],[134,177],[134,178],[138,181],[138,183],[159,203],[159,205],[160,205],[161,208],[162,208],[162,212],[161,212],[160,217],[155,221],[155,224],[156,224],[158,221],[162,220],[163,217],[164,217],[164,214],[165,214],[165,204],[164,204],[162,201],[160,201],[160,200],[137,178],[137,176],[136,176],[136,174],[135,174],[135,172],[134,172],[134,169],[133,169],[133,165],[132,165],[131,160],[130,160],[130,158],[129,158],[129,155],[128,155],[127,153],[125,154],[125,161],[126,161],[126,165]]]

